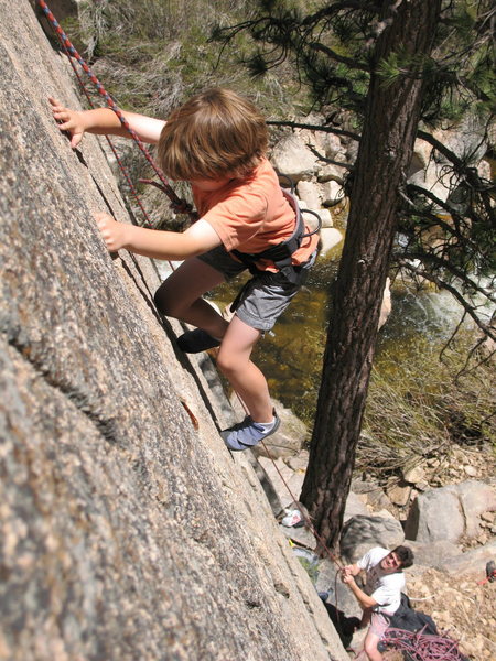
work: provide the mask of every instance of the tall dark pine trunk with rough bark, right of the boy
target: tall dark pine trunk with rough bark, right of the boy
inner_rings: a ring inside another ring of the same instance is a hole
[[[429,55],[440,0],[385,2],[392,11],[374,54]],[[413,65],[410,65],[413,67]],[[317,411],[302,502],[316,531],[337,550],[374,357],[396,226],[398,187],[410,162],[422,82],[371,75],[351,194],[346,240],[333,292]]]

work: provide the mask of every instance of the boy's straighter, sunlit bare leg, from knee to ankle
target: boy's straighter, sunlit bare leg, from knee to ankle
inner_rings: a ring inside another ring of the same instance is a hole
[[[252,420],[267,423],[273,419],[269,387],[262,372],[250,360],[260,336],[260,330],[235,315],[224,335],[217,366],[247,405]]]

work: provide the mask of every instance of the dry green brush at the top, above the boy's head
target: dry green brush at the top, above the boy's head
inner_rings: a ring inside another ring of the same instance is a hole
[[[211,40],[229,17],[245,19],[246,3],[219,0],[122,0],[83,3],[79,26],[72,25],[105,76],[108,90],[123,107],[166,117],[173,107],[209,86],[229,86],[255,98],[262,109],[291,107],[291,79],[269,75],[254,83],[234,66],[251,40],[240,35],[236,50]]]

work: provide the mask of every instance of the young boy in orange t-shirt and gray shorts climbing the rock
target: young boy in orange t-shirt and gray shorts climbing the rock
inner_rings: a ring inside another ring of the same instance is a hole
[[[110,109],[75,111],[50,101],[73,149],[85,132],[129,137]],[[247,449],[280,424],[267,381],[250,355],[300,289],[315,259],[317,235],[309,236],[281,189],[266,158],[266,122],[247,99],[214,88],[190,99],[168,121],[123,115],[143,142],[159,145],[163,172],[191,184],[200,219],[183,232],[158,231],[101,213],[96,215],[98,228],[109,251],[184,260],[158,289],[155,304],[163,314],[196,326],[179,338],[182,350],[220,347],[217,366],[249,411],[222,436],[229,449]],[[227,322],[202,295],[247,268],[252,278]]]

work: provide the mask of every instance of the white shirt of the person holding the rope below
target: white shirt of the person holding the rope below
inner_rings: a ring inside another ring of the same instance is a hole
[[[392,615],[398,610],[401,590],[405,588],[405,575],[401,570],[388,574],[380,566],[380,561],[389,553],[387,549],[375,546],[357,562],[360,570],[367,572],[364,592],[377,602],[374,610],[385,615]]]

